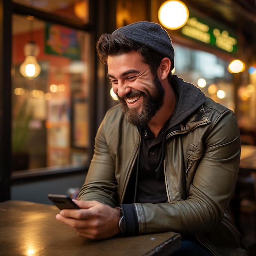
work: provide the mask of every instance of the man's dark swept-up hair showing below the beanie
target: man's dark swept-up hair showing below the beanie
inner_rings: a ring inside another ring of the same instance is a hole
[[[142,56],[144,63],[150,66],[154,78],[157,78],[157,68],[164,58],[164,56],[149,47],[139,45],[123,34],[118,33],[114,35],[102,34],[96,44],[96,49],[101,63],[105,65],[108,63],[109,55],[115,56],[134,50]],[[171,72],[168,74],[168,81],[171,83]]]

